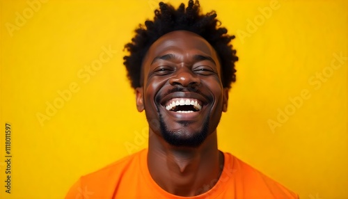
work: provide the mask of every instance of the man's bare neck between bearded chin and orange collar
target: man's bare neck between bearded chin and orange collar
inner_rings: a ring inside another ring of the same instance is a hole
[[[197,148],[175,147],[155,133],[150,135],[148,169],[162,189],[176,196],[197,196],[217,182],[223,154],[217,148],[216,131]]]

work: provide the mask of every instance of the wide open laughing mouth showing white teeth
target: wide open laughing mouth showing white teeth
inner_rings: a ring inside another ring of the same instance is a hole
[[[166,103],[166,109],[176,113],[193,113],[202,109],[202,103],[196,99],[176,98]]]

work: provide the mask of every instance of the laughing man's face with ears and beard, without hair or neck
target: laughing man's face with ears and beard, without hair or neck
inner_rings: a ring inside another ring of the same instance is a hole
[[[173,31],[154,42],[142,65],[143,87],[136,88],[150,132],[171,145],[197,147],[216,131],[227,110],[216,51],[200,35]]]

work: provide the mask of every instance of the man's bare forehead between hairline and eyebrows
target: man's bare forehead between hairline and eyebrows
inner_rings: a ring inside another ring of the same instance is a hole
[[[211,56],[218,62],[214,48],[200,35],[190,31],[173,31],[156,40],[149,48],[144,62],[151,61],[156,56],[176,53],[181,56],[196,54]]]

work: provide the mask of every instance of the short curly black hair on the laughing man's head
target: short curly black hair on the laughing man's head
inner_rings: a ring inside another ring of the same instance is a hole
[[[186,9],[184,3],[181,3],[176,10],[170,4],[161,2],[159,9],[155,10],[153,21],[146,20],[145,26],[139,24],[132,42],[125,45],[129,56],[123,57],[123,64],[132,87],[142,86],[141,65],[150,46],[162,35],[182,30],[196,33],[212,45],[219,56],[223,88],[231,88],[232,82],[236,81],[235,61],[238,61],[236,50],[230,44],[235,35],[228,35],[226,28],[219,27],[221,22],[216,19],[215,11],[201,14],[198,0],[190,0]]]

